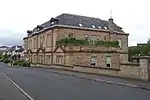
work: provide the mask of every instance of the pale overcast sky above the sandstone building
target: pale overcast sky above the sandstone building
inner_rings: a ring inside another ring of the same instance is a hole
[[[149,0],[1,0],[0,45],[23,44],[31,30],[62,13],[112,18],[129,33],[129,46],[145,43],[149,35]]]

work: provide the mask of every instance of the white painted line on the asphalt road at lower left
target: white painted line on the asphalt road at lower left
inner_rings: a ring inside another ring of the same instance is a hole
[[[25,95],[28,99],[34,100],[29,94],[27,94],[21,87],[19,87],[12,79],[10,79],[5,73],[1,73],[4,75],[23,95]]]

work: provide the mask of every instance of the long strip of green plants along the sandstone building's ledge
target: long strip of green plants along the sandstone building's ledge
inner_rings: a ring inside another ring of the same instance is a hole
[[[108,47],[119,47],[118,41],[88,41],[76,38],[64,38],[56,42],[56,45],[95,45],[95,46],[108,46]]]

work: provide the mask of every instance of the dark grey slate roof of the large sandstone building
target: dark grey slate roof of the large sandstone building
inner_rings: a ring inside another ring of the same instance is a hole
[[[80,26],[79,24],[80,25],[82,24],[82,26]],[[42,30],[42,29],[49,28],[53,25],[67,25],[67,26],[75,26],[75,27],[85,27],[85,28],[109,30],[110,21],[109,20],[108,21],[101,20],[99,18],[63,13],[55,18],[51,18],[51,20],[49,20],[41,25],[37,25],[37,27],[35,27],[32,30],[32,33],[38,32],[39,27],[40,27],[40,30]],[[111,27],[113,27],[114,31],[123,32],[122,28],[117,26],[114,22],[111,23]],[[30,34],[32,34],[32,33],[30,33]]]

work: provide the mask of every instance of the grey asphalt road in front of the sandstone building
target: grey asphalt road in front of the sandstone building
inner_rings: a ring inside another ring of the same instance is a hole
[[[8,68],[4,64],[0,64],[0,100],[29,100],[4,74],[33,100],[150,100],[150,91],[145,89],[95,82],[47,69]]]

